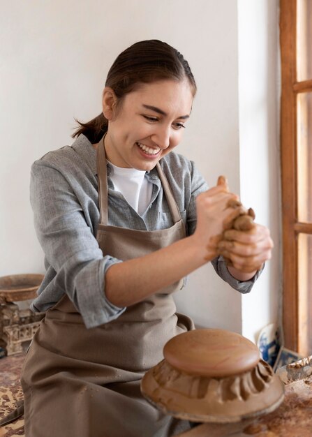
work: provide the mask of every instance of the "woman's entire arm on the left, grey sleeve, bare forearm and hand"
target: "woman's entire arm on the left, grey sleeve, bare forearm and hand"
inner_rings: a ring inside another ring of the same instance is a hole
[[[174,283],[216,256],[207,242],[223,231],[231,193],[214,187],[198,195],[198,222],[191,237],[142,258],[121,262],[103,253],[94,237],[96,180],[72,148],[48,154],[31,172],[31,205],[45,257],[55,271],[45,297],[66,292],[87,327],[117,318],[134,304]],[[91,216],[94,212],[94,216]],[[48,302],[48,300],[47,300]]]

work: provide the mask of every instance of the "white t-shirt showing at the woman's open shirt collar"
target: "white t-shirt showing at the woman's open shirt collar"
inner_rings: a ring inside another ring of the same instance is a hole
[[[151,202],[153,191],[153,184],[145,177],[145,170],[121,168],[112,163],[110,165],[112,167],[110,178],[114,184],[114,189],[124,195],[131,207],[142,215]]]

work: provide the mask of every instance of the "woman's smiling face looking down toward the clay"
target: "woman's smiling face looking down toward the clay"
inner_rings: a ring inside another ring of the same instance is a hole
[[[192,103],[188,80],[142,84],[126,94],[117,113],[109,119],[105,136],[108,161],[124,168],[154,168],[181,141]]]

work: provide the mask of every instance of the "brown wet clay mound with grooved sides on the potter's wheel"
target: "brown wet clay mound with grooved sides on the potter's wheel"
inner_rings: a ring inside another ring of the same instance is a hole
[[[254,343],[223,329],[175,336],[165,359],[142,379],[141,390],[165,414],[194,422],[238,422],[270,413],[283,384]]]

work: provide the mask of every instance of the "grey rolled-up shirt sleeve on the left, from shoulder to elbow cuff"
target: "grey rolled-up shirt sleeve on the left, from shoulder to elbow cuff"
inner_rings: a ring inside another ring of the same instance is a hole
[[[110,322],[125,310],[103,293],[105,272],[121,261],[103,256],[94,237],[97,186],[89,173],[84,160],[68,147],[34,163],[30,186],[36,234],[54,271],[40,299],[46,309],[66,293],[88,328]]]

